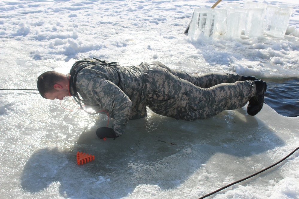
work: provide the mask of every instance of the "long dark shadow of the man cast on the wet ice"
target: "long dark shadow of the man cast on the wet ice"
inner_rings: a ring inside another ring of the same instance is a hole
[[[24,167],[22,189],[36,193],[57,182],[65,198],[122,198],[141,184],[170,190],[217,153],[244,158],[282,144],[245,109],[193,122],[150,113],[146,119],[129,121],[126,132],[115,140],[98,139],[92,128],[71,150],[40,149]],[[95,159],[77,165],[77,151]]]

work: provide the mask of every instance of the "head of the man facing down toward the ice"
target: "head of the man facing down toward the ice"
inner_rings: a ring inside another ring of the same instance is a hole
[[[48,71],[37,78],[37,89],[46,99],[60,99],[70,96],[68,92],[68,78],[65,74]]]

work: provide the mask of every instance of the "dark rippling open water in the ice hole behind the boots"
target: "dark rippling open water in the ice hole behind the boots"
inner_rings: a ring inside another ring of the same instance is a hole
[[[299,78],[263,79],[267,82],[265,104],[288,117],[299,116]]]

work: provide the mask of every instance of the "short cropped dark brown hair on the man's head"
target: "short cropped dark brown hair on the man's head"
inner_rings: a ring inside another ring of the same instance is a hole
[[[62,76],[56,71],[47,71],[39,75],[37,78],[37,89],[43,98],[46,98],[46,93],[54,92],[54,84],[62,80]]]

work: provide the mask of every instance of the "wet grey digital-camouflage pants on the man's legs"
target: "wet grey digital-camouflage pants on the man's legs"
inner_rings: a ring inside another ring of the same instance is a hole
[[[159,114],[184,120],[205,119],[224,110],[243,107],[255,95],[253,81],[241,75],[189,75],[160,62],[147,66],[147,105]]]

